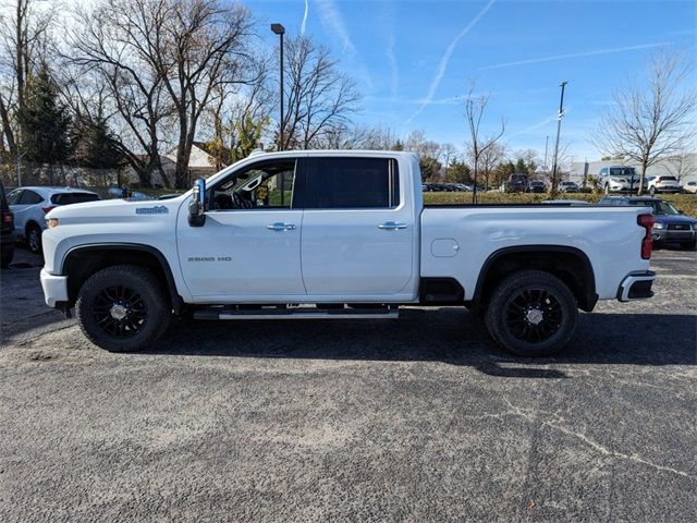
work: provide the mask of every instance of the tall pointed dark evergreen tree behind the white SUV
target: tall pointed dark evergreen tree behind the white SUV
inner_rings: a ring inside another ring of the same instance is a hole
[[[71,117],[46,63],[29,77],[24,107],[17,112],[25,158],[37,163],[62,163],[70,155]]]

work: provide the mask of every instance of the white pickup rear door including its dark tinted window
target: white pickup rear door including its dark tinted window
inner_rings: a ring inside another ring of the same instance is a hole
[[[302,192],[308,295],[389,296],[407,285],[415,223],[395,159],[310,156]]]

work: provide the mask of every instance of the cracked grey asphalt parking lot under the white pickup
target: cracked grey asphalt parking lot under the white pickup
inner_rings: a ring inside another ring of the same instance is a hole
[[[0,521],[697,521],[697,256],[521,360],[457,308],[110,354],[0,275]]]

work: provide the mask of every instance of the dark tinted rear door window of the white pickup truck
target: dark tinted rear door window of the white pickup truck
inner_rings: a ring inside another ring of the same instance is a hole
[[[309,158],[306,209],[391,209],[400,205],[393,158]]]

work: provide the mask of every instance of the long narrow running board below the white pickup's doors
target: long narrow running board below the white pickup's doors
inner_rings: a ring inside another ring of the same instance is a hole
[[[269,308],[239,311],[208,308],[196,311],[194,319],[396,319],[398,308]]]

